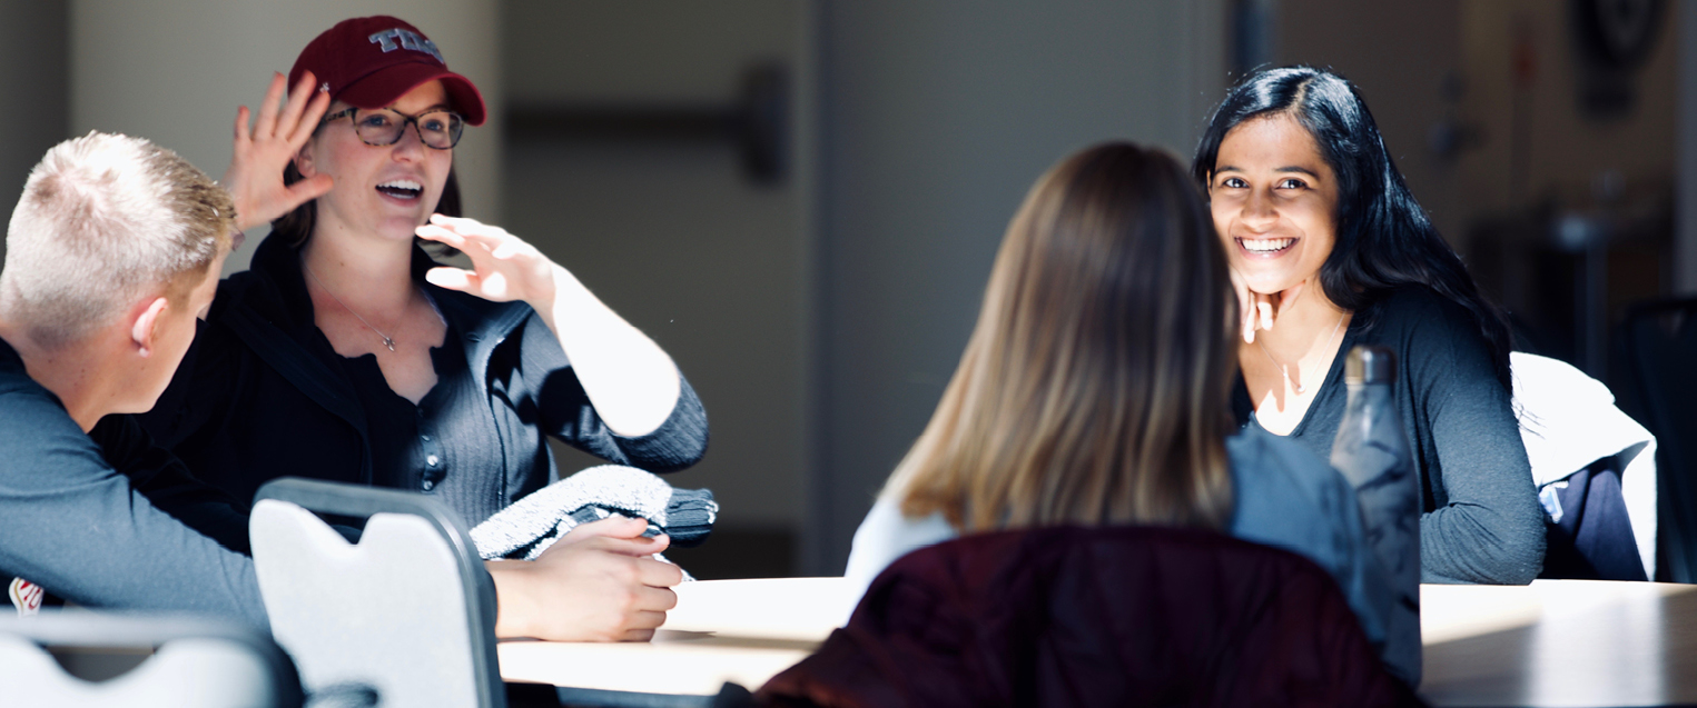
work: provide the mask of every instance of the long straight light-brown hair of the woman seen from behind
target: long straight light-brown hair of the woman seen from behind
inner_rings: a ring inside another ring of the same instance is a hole
[[[884,493],[962,532],[1224,528],[1235,307],[1174,158],[1067,158],[1008,225],[961,366]]]

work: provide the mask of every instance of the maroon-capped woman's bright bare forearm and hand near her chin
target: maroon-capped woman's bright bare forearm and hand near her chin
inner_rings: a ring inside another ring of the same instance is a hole
[[[523,300],[536,310],[608,429],[624,437],[647,435],[672,415],[682,391],[672,357],[535,246],[506,229],[440,213],[417,227],[417,235],[472,259],[470,271],[443,266],[426,273],[438,288]]]

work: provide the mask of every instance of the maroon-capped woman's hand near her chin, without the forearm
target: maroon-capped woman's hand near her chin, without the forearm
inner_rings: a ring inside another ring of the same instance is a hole
[[[506,229],[475,218],[433,213],[429,224],[417,227],[417,235],[460,249],[472,259],[472,271],[431,268],[424,278],[438,288],[494,301],[523,300],[538,310],[543,310],[543,303],[553,301],[553,261]]]

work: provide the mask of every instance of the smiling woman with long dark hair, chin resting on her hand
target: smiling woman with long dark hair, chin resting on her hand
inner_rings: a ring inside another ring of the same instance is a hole
[[[1510,407],[1509,327],[1432,227],[1359,91],[1307,66],[1234,86],[1196,147],[1242,301],[1239,422],[1325,456],[1341,352],[1395,351],[1429,583],[1529,583],[1544,517]]]

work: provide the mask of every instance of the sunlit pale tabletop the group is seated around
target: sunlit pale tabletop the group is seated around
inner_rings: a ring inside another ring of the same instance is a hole
[[[711,696],[811,654],[847,618],[842,578],[686,583],[652,644],[502,642],[507,681]],[[1537,581],[1420,588],[1439,706],[1697,705],[1697,586]]]

